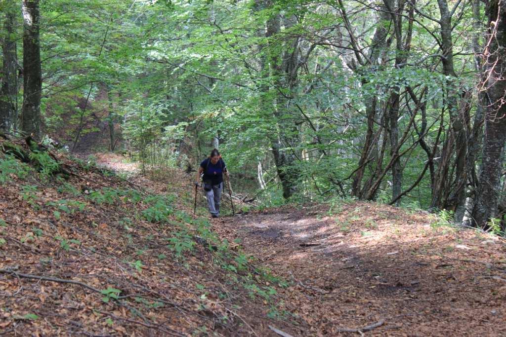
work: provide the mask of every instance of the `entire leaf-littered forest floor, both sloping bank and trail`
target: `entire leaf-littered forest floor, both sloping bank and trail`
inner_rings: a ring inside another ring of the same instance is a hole
[[[122,156],[97,158],[139,171]],[[506,331],[503,239],[364,202],[206,220],[200,193],[193,216],[194,173],[75,172],[0,184],[2,336]],[[152,218],[158,202],[172,211]]]

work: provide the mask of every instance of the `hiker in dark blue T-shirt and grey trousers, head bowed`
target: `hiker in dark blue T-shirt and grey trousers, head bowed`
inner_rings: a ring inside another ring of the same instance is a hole
[[[198,186],[200,175],[203,175],[203,186],[207,206],[213,218],[220,216],[220,201],[223,191],[223,173],[229,175],[227,166],[221,158],[217,149],[211,151],[211,155],[200,163],[197,171],[197,179],[195,185]]]

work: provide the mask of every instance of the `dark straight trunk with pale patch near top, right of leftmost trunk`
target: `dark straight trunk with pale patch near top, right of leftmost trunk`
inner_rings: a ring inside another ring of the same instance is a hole
[[[21,130],[40,137],[40,66],[38,0],[23,0],[23,109]]]

